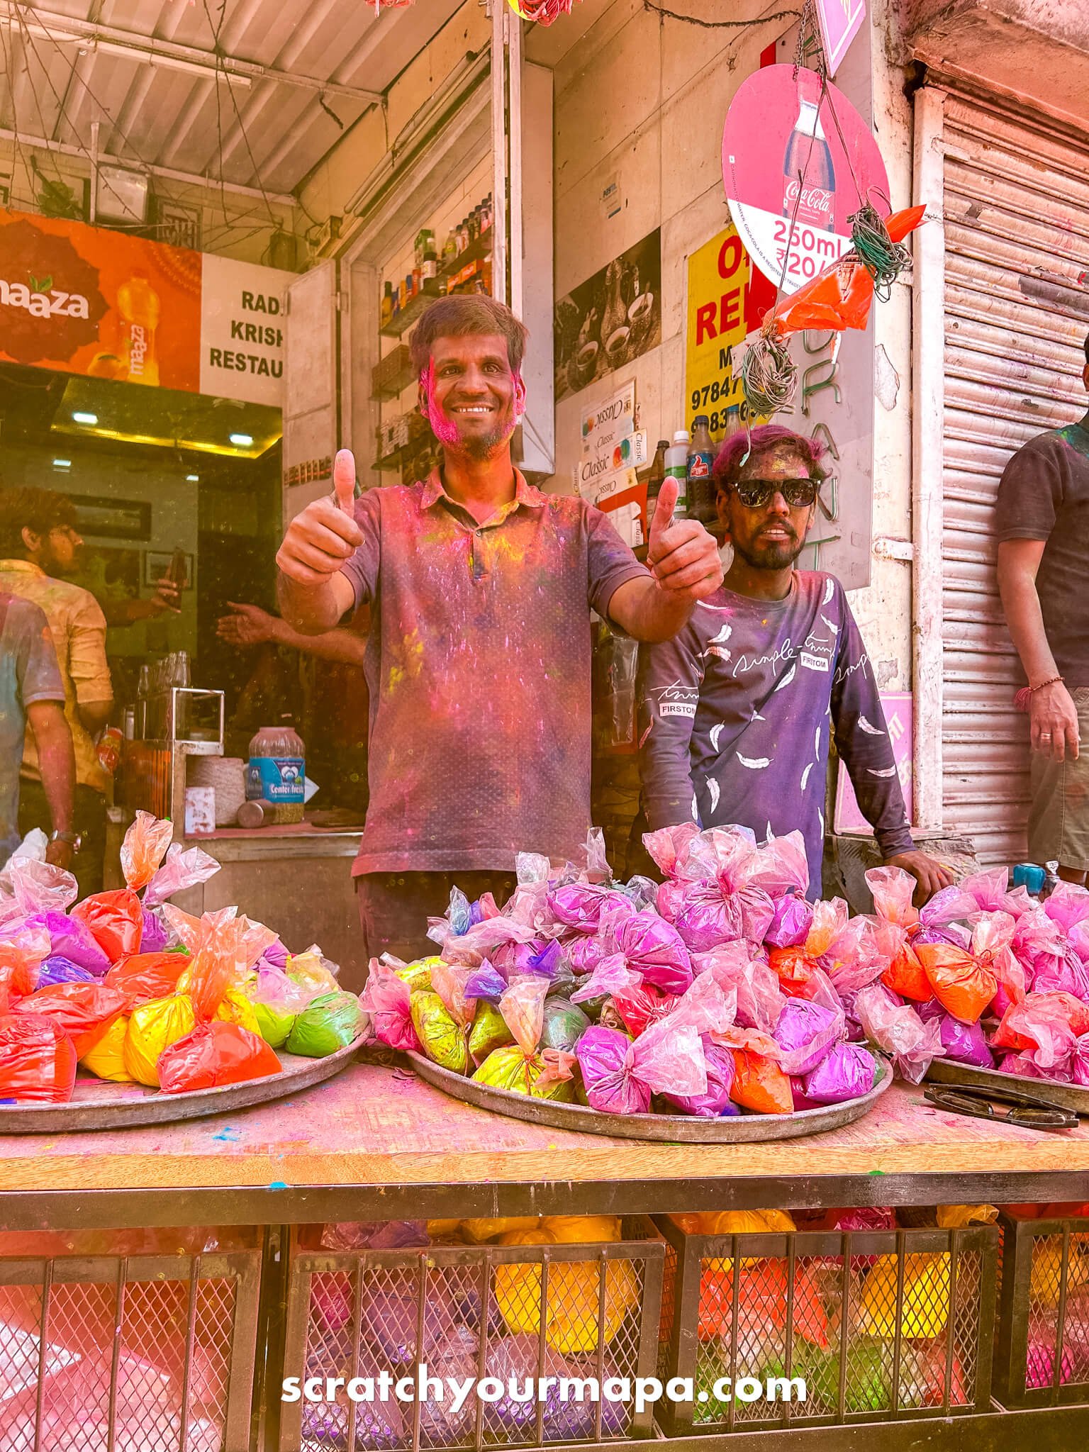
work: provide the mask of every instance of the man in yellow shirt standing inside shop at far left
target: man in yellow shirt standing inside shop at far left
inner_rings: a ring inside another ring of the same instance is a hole
[[[106,664],[106,617],[90,591],[71,584],[83,546],[76,505],[51,489],[0,492],[0,590],[39,605],[49,621],[64,684],[65,716],[76,749],[76,796],[71,828],[58,841],[74,851],[71,871],[80,896],[99,892],[106,854],[106,788],[109,777],[94,751],[94,738],[113,709]],[[26,736],[19,790],[19,831],[57,831],[42,783],[33,733]]]

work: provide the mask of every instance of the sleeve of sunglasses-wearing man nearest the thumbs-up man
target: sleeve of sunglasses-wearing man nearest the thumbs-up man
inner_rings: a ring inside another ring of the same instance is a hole
[[[639,777],[652,832],[696,819],[688,748],[703,675],[691,623],[639,652]]]

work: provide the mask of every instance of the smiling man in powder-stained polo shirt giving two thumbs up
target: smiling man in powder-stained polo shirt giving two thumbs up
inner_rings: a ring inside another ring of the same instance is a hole
[[[665,640],[722,582],[713,537],[674,520],[666,481],[649,569],[598,510],[542,494],[511,459],[526,405],[526,325],[486,296],[433,303],[412,333],[420,409],[441,465],[353,504],[292,520],[277,553],[280,608],[321,633],[369,601],[370,806],[354,864],[367,954],[431,947],[428,915],[457,883],[470,899],[514,886],[518,851],[579,860],[590,828],[595,610]]]

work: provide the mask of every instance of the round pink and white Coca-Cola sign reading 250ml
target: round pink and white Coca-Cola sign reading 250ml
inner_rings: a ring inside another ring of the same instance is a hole
[[[745,248],[784,293],[836,263],[851,245],[848,216],[889,195],[881,152],[855,107],[794,65],[767,65],[739,87],[722,176]]]

